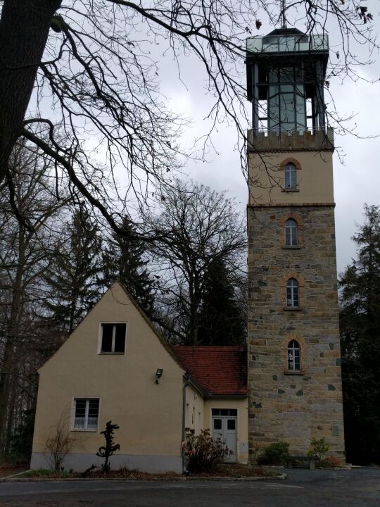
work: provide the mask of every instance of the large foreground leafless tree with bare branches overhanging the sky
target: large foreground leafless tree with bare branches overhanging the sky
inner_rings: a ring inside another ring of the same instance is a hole
[[[151,184],[165,184],[186,155],[178,142],[184,120],[165,108],[160,88],[158,62],[168,57],[178,63],[179,77],[182,56],[201,61],[208,92],[215,97],[205,116],[211,130],[222,120],[236,125],[244,165],[244,39],[257,33],[264,18],[277,23],[280,1],[0,4],[0,181],[6,182],[11,201],[8,161],[24,136],[55,161],[66,189],[84,196],[122,234],[120,208],[130,203],[131,192],[144,202]],[[358,0],[288,0],[285,10],[289,19],[305,25],[305,32],[325,31],[334,23],[341,34],[334,75],[355,78],[353,42],[368,44],[369,54],[376,47],[369,28],[372,15]],[[34,123],[48,128],[49,139],[31,130]],[[210,140],[210,131],[204,139]],[[99,166],[101,156],[107,170]],[[107,192],[106,182],[115,182],[117,167],[125,169],[122,184],[131,192],[119,194],[117,184]]]

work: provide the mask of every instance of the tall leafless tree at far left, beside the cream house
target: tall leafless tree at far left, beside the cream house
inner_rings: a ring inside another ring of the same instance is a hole
[[[16,420],[34,405],[35,371],[53,349],[56,334],[35,318],[44,301],[43,273],[55,242],[53,221],[65,205],[49,182],[49,161],[19,139],[8,163],[14,206],[27,217],[15,219],[0,190],[0,453],[8,451]]]

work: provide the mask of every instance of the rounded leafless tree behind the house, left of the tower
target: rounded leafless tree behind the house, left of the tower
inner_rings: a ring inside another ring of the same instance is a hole
[[[176,180],[162,196],[162,213],[150,221],[161,238],[151,246],[156,320],[170,337],[196,344],[208,267],[222,260],[239,270],[245,263],[244,219],[224,192]]]

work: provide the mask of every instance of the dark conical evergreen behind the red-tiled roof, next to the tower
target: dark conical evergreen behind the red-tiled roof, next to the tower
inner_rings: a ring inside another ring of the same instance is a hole
[[[208,267],[199,314],[198,344],[246,343],[246,325],[236,300],[234,280],[225,262],[215,258]]]

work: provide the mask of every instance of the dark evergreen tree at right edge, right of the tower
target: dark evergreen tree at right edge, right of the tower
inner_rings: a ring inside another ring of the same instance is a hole
[[[365,206],[353,240],[357,260],[341,279],[341,342],[346,453],[380,463],[380,208]]]

